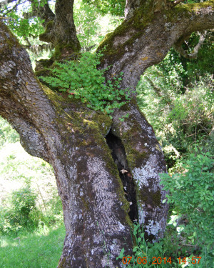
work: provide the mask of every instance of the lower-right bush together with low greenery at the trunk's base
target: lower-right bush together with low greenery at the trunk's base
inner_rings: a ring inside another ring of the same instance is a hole
[[[173,177],[161,174],[161,183],[169,192],[168,203],[174,209],[165,237],[154,244],[148,243],[144,238],[143,227],[135,224],[133,255],[131,258],[124,256],[122,249],[118,256],[118,259],[121,259],[121,267],[212,267],[213,164],[212,156],[208,152],[190,154],[189,159],[182,165],[182,174],[174,174]],[[185,261],[182,263],[184,257]],[[193,264],[194,257],[201,257],[200,262],[198,263],[197,259],[197,264]],[[123,265],[122,261],[123,264],[127,262],[126,265]]]

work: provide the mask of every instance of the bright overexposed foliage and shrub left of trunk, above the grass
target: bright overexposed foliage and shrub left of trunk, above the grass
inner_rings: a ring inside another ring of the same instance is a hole
[[[0,124],[0,232],[20,234],[61,224],[61,199],[51,166],[24,151],[6,120],[0,118]]]

